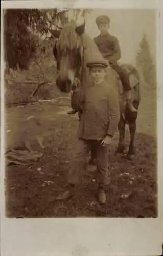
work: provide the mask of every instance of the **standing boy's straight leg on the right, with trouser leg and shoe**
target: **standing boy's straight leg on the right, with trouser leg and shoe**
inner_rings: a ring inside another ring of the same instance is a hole
[[[108,169],[109,147],[100,145],[97,141],[97,180],[99,183],[98,199],[100,203],[106,202],[105,188],[110,183],[110,174]]]

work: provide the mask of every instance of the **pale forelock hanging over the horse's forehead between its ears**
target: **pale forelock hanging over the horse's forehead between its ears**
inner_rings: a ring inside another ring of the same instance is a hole
[[[76,50],[81,45],[80,36],[76,33],[75,28],[75,22],[69,22],[61,30],[58,45],[63,53]]]

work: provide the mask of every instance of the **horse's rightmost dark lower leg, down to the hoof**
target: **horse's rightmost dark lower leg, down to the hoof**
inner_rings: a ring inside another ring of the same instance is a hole
[[[135,139],[135,132],[136,132],[136,121],[129,122],[129,129],[130,129],[130,145],[129,145],[129,150],[127,152],[127,157],[128,159],[132,159],[132,157],[135,155],[134,139]]]

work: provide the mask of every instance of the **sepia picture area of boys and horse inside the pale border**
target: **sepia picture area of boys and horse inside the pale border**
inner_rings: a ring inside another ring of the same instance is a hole
[[[3,15],[6,217],[157,217],[155,9]]]

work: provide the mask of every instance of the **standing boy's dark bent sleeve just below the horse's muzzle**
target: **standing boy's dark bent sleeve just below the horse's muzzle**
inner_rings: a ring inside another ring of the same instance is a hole
[[[82,111],[83,110],[83,105],[84,105],[84,92],[83,92],[82,89],[77,88],[72,93],[71,106],[76,111]]]

